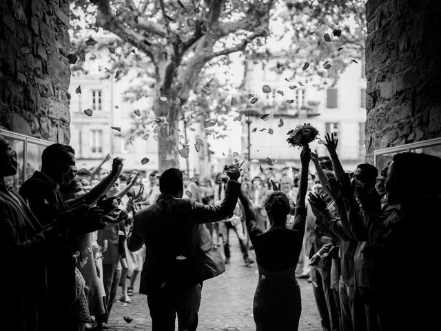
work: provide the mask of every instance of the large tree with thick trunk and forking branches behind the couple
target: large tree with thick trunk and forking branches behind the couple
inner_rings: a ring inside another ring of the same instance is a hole
[[[93,0],[75,1],[92,25],[136,48],[150,61],[154,79],[159,170],[177,167],[166,159],[178,149],[178,120],[191,91],[200,91],[201,70],[268,34],[274,0]],[[81,27],[80,27],[81,28]],[[74,30],[78,30],[77,26]],[[127,52],[127,48],[125,52]],[[128,50],[130,51],[130,50]],[[207,88],[202,87],[202,91]],[[164,120],[166,119],[166,120]],[[141,128],[143,130],[143,121]]]

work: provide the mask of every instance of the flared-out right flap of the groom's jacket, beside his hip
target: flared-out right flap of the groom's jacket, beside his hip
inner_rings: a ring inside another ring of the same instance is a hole
[[[205,224],[199,225],[199,248],[201,249],[202,281],[225,272],[225,262],[214,244]]]

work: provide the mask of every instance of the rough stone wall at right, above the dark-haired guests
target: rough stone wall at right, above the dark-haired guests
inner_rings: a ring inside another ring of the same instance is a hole
[[[373,150],[441,137],[441,1],[369,0],[367,161]]]

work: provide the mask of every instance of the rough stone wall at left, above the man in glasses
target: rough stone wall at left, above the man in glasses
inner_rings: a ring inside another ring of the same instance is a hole
[[[68,0],[0,1],[0,128],[68,143]]]

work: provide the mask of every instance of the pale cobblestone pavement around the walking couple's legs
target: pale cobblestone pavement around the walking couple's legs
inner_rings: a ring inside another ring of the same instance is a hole
[[[258,279],[256,263],[247,267],[243,263],[238,241],[230,237],[232,260],[220,276],[204,282],[198,330],[256,330],[252,317],[252,301]],[[254,251],[250,257],[255,260]],[[312,285],[306,279],[298,279],[302,293],[302,316],[299,330],[322,330],[314,301]],[[134,289],[132,303],[116,302],[108,323],[110,331],[152,330],[152,320],[145,295]],[[117,297],[121,294],[121,288]],[[132,317],[127,324],[123,317]],[[177,322],[177,320],[176,320]],[[176,323],[177,325],[177,323]],[[177,328],[177,326],[176,326]]]

